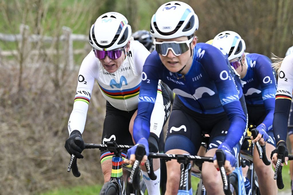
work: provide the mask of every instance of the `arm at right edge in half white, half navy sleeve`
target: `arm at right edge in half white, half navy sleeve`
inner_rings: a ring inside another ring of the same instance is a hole
[[[277,145],[280,143],[286,145],[287,124],[293,89],[292,63],[293,54],[286,56],[282,62],[279,73],[273,119],[273,131]]]

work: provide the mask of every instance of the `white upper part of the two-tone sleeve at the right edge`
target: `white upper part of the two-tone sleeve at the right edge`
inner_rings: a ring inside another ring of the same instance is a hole
[[[277,98],[285,98],[289,96],[292,98],[293,89],[293,54],[286,56],[282,62],[279,78],[278,78],[278,88],[276,93]]]

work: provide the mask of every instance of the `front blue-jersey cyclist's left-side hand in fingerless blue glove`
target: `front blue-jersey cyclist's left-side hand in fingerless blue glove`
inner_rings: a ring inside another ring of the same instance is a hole
[[[144,155],[144,157],[142,158],[142,161],[140,162],[141,165],[144,165],[144,163],[147,161],[147,156],[149,155],[149,143],[147,141],[147,139],[142,138],[139,141],[137,141],[137,144],[135,146],[133,146],[132,148],[128,149],[127,151],[127,156],[124,159],[124,163],[128,163],[133,165],[135,162],[135,151],[136,148],[139,144],[144,145],[145,150],[146,150],[146,155]]]

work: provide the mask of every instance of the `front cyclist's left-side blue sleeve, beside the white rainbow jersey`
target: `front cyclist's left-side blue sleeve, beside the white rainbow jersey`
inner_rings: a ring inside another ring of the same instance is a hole
[[[162,72],[161,60],[156,51],[146,59],[142,71],[142,83],[139,89],[139,102],[137,116],[133,125],[133,139],[137,143],[139,139],[149,138],[151,113],[156,102],[158,82]],[[158,67],[158,68],[157,68]]]

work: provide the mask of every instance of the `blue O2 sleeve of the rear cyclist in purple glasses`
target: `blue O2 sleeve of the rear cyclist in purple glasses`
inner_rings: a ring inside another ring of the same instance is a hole
[[[258,66],[255,67],[255,77],[260,83],[261,93],[263,96],[263,103],[266,110],[266,117],[263,122],[258,125],[257,129],[263,129],[266,132],[272,130],[272,122],[275,110],[275,94],[276,78],[275,72],[272,70],[271,61],[268,57],[260,55],[257,60]]]

